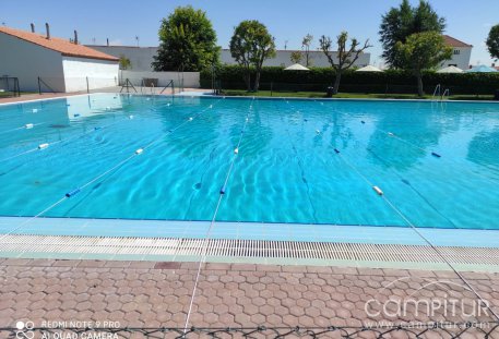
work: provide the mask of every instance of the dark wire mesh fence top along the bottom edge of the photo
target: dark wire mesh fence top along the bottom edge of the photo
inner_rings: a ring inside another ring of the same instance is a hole
[[[8,338],[497,338],[499,323],[329,327],[0,328]]]

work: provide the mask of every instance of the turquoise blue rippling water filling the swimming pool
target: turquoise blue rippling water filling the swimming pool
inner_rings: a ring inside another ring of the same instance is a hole
[[[0,106],[0,141],[3,216],[84,186],[43,216],[211,220],[240,141],[218,221],[408,226],[377,185],[414,226],[499,229],[497,104],[99,94]]]

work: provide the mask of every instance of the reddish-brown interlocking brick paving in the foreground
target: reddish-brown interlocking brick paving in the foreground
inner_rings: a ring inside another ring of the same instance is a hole
[[[0,327],[17,320],[119,322],[120,327],[183,327],[198,263],[0,259]],[[462,273],[499,311],[499,274]],[[428,281],[424,295],[473,298],[454,273],[250,264],[203,265],[189,326],[325,327],[373,322],[462,322],[471,318],[409,312],[368,315],[367,301],[405,298]],[[384,288],[383,288],[384,287]],[[413,310],[414,311],[414,310]],[[479,322],[497,320],[480,314]],[[497,328],[491,338],[499,336]],[[476,332],[471,338],[480,338]],[[497,337],[496,337],[497,338]]]

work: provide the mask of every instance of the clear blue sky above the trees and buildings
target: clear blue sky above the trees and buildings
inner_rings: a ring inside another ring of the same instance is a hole
[[[218,44],[228,46],[234,27],[246,19],[263,22],[275,37],[277,48],[299,49],[302,36],[312,34],[314,48],[322,34],[336,36],[346,29],[358,39],[369,38],[371,63],[380,62],[381,47],[378,28],[381,14],[401,0],[23,0],[0,1],[0,24],[45,32],[50,23],[51,34],[71,37],[78,29],[83,44],[157,46],[157,29],[162,17],[177,5],[192,4],[206,11],[218,36]],[[417,3],[417,0],[412,0]],[[476,2],[456,0],[430,1],[447,19],[447,34],[474,46],[472,63],[490,64],[485,39],[492,24],[499,24],[499,0]]]

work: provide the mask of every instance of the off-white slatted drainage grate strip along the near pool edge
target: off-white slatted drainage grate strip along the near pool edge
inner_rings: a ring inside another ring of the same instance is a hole
[[[181,261],[186,256],[201,256],[203,245],[203,239],[9,234],[2,239],[0,255],[29,256],[29,253],[37,253],[38,256],[100,255],[103,258],[175,256]],[[439,250],[453,264],[499,265],[499,249],[439,246]],[[342,242],[212,239],[207,241],[206,255],[209,258],[442,263],[435,251],[426,245]]]

